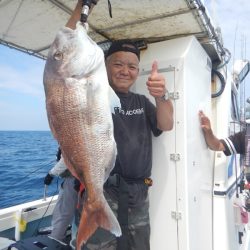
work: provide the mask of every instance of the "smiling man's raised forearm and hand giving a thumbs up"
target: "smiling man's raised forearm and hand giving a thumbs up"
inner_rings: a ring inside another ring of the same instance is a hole
[[[168,131],[173,128],[173,104],[170,99],[163,100],[161,97],[166,93],[165,78],[158,73],[157,62],[152,65],[151,75],[147,81],[148,91],[156,100],[156,118],[157,126],[162,131]]]

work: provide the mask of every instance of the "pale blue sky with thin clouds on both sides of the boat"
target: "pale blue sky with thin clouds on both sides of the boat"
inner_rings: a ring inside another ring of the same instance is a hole
[[[203,0],[224,47],[234,59],[250,60],[249,0]],[[0,45],[0,130],[49,130],[43,70],[45,61]],[[245,79],[250,96],[250,73]]]

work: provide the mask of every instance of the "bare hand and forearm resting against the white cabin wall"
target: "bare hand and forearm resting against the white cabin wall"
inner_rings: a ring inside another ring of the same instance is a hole
[[[225,151],[223,143],[214,135],[210,120],[203,111],[199,111],[199,118],[208,147],[214,151]]]

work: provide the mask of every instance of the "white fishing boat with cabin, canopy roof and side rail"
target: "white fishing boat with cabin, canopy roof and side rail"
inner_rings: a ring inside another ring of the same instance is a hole
[[[46,59],[75,4],[2,0],[0,43]],[[240,185],[244,166],[238,155],[226,157],[208,149],[198,119],[199,110],[208,114],[220,138],[245,126],[239,98],[249,62],[239,60],[228,70],[230,52],[200,0],[117,0],[111,5],[100,0],[88,23],[89,35],[104,51],[110,41],[123,38],[140,47],[140,76],[133,91],[154,102],[145,82],[155,59],[167,79],[174,129],[153,139],[151,249],[249,249],[249,191]],[[56,199],[41,197],[0,210],[0,249],[13,241],[25,245],[39,229],[50,226]],[[52,248],[34,243],[23,249]]]

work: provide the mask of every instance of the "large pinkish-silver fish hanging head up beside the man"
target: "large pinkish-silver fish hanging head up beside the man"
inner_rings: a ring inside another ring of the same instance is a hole
[[[111,110],[120,101],[109,86],[103,51],[88,36],[87,24],[59,30],[45,65],[44,88],[51,131],[67,167],[86,187],[77,249],[98,227],[120,236],[103,195],[117,152]]]

